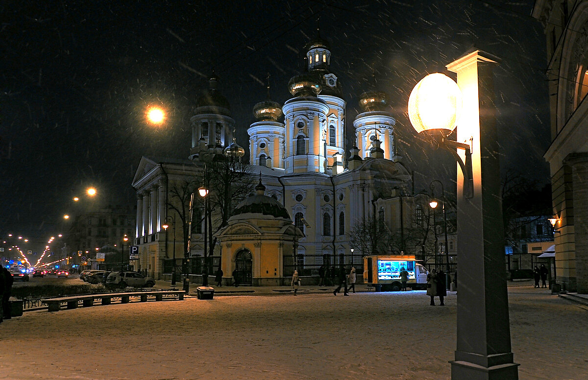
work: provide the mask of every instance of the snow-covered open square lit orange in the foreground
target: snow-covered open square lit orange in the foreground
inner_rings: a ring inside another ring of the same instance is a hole
[[[519,379],[588,378],[588,308],[509,287]],[[215,297],[26,312],[0,324],[1,379],[449,379],[456,294]]]

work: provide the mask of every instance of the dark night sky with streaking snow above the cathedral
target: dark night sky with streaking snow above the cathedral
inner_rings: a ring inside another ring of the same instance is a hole
[[[417,187],[433,178],[450,183],[456,165],[444,153],[432,162],[423,153],[426,144],[407,120],[410,90],[474,48],[502,59],[496,92],[503,167],[549,181],[542,157],[549,146],[545,39],[530,17],[533,1],[26,3],[0,5],[2,236],[44,244],[65,230],[62,215],[88,186],[101,194],[95,202],[134,205],[131,181],[141,156],[188,156],[192,107],[212,70],[230,102],[238,143],[248,148],[246,130],[252,107],[266,98],[266,76],[270,96],[283,104],[317,25],[348,102],[348,138],[375,73]],[[149,105],[167,110],[165,126],[145,122]]]

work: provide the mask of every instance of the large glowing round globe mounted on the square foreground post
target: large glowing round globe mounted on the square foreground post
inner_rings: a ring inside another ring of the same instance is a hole
[[[425,76],[416,84],[408,100],[410,123],[416,132],[450,134],[462,112],[462,91],[445,74]]]

